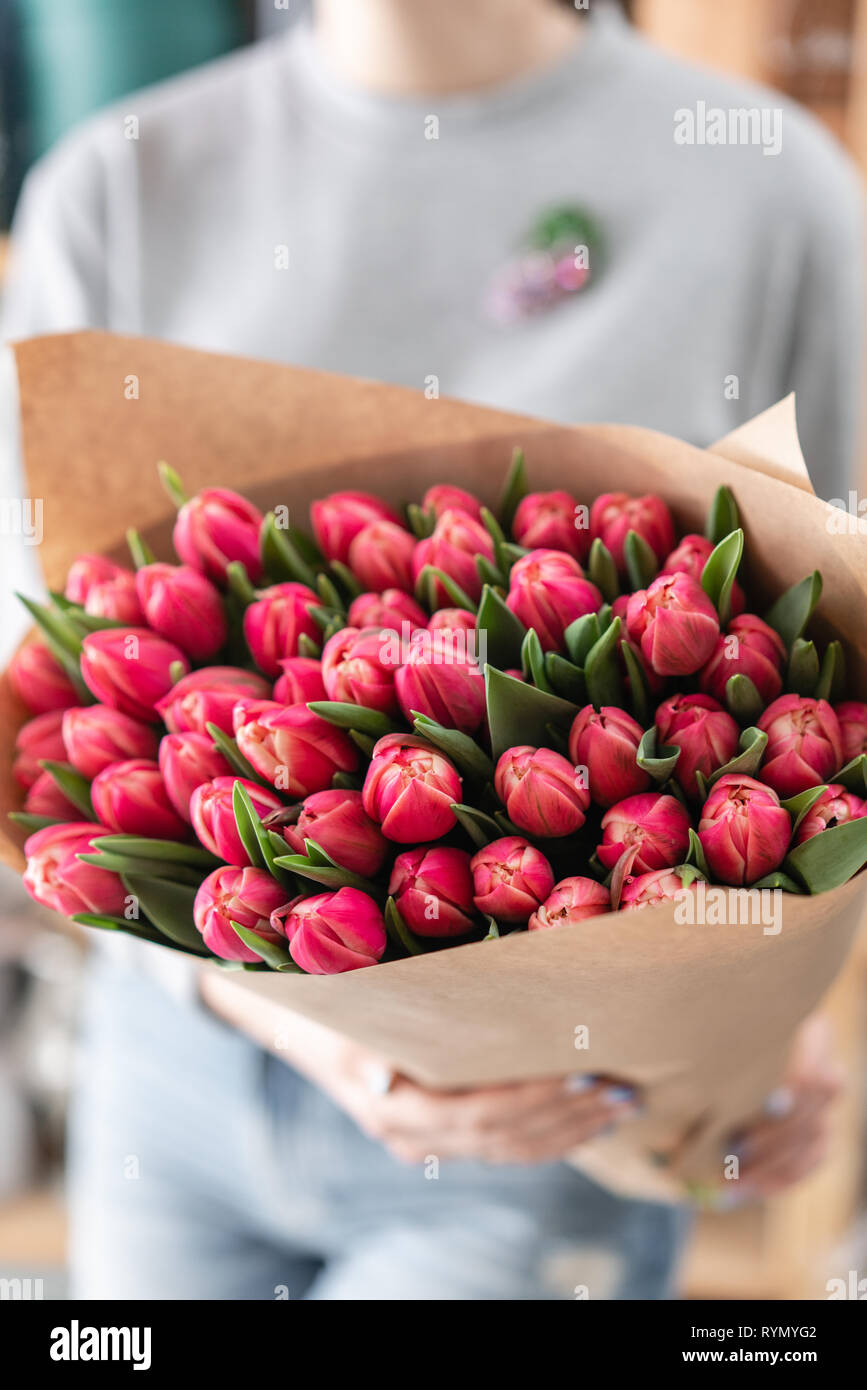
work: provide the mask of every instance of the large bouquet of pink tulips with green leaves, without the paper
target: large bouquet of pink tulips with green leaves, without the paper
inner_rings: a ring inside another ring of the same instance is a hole
[[[809,635],[818,573],[754,613],[736,502],[338,492],[313,535],[224,488],[176,557],[129,532],[25,600],[10,667],[25,885],[75,922],[336,974],[697,885],[811,894],[867,862],[867,705]],[[647,919],[647,929],[652,919]]]

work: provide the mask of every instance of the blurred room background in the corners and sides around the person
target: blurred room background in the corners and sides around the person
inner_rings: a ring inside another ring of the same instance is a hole
[[[304,0],[0,0],[0,293],[28,167],[124,93],[285,31]],[[807,106],[867,174],[867,0],[632,0],[656,43]],[[64,1294],[64,1109],[85,942],[0,877],[0,1279]],[[784,1197],[702,1215],[689,1298],[827,1297],[867,1275],[867,940],[828,1001],[850,1086],[831,1159]]]

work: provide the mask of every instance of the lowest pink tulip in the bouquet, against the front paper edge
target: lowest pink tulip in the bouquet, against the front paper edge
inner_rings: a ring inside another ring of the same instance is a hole
[[[382,913],[358,888],[296,898],[272,916],[282,926],[289,955],[307,974],[343,974],[377,965],[385,952]]]

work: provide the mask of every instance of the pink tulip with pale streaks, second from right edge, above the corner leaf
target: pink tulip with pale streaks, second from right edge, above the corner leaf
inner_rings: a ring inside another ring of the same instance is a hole
[[[825,699],[781,695],[759,720],[768,742],[761,781],[781,796],[829,781],[843,766],[843,739],[836,714]]]

